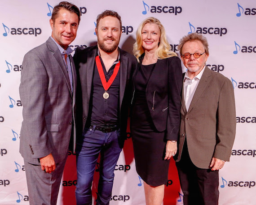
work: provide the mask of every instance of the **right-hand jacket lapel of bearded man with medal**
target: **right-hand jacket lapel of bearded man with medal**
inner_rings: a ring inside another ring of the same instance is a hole
[[[120,87],[119,87],[119,111],[121,111],[121,105],[124,98],[124,91],[127,81],[127,68],[128,68],[128,59],[126,55],[120,51]]]

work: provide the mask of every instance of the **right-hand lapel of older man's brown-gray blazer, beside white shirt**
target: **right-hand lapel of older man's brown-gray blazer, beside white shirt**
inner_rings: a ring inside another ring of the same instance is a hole
[[[188,113],[193,109],[194,105],[196,105],[198,99],[203,94],[204,90],[207,88],[207,84],[209,83],[209,76],[211,75],[209,68],[206,66],[203,72],[203,75],[199,81],[199,84],[195,90],[194,97],[190,103],[190,108]]]

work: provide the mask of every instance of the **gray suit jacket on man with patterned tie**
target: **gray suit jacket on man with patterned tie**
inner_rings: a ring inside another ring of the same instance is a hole
[[[23,106],[20,153],[26,162],[40,164],[39,158],[50,153],[55,163],[61,162],[71,137],[75,149],[76,73],[70,59],[73,94],[61,53],[51,38],[24,56],[19,87]]]

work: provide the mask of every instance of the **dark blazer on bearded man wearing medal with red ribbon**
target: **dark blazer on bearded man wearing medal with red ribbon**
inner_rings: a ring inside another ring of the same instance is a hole
[[[126,138],[126,127],[128,118],[128,106],[131,99],[131,75],[136,67],[137,60],[134,56],[119,48],[120,52],[120,88],[119,88],[119,126],[120,147],[124,146]],[[93,84],[93,70],[97,46],[81,48],[78,47],[73,57],[77,71],[77,132],[78,137],[82,135],[84,126],[88,119],[89,104]]]

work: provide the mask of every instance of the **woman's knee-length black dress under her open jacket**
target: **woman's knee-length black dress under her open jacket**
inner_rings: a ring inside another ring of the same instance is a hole
[[[146,86],[155,64],[141,65],[134,78],[131,136],[137,173],[147,184],[159,186],[168,180],[170,160],[164,160],[165,132],[158,132],[146,102]]]

